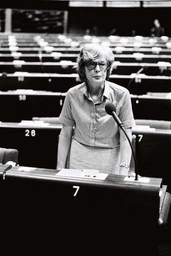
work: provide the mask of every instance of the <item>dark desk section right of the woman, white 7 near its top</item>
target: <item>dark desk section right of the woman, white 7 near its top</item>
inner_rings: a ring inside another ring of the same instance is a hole
[[[163,184],[171,191],[171,131],[138,130],[135,126],[132,134],[136,135],[135,155],[139,175],[162,178]]]

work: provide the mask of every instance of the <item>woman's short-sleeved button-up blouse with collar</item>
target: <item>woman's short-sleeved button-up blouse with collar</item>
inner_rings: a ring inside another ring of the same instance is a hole
[[[105,81],[102,97],[94,102],[86,83],[70,88],[63,103],[59,121],[74,126],[73,138],[88,146],[114,148],[119,145],[119,129],[112,116],[105,112],[105,105],[113,103],[124,128],[135,125],[129,91]],[[96,126],[97,132],[93,132]]]

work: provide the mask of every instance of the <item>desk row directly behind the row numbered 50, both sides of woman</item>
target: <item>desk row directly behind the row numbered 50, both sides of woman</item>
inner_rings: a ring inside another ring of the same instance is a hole
[[[131,81],[131,84],[129,82]],[[109,81],[128,88],[131,94],[141,95],[146,92],[171,92],[169,76],[146,76],[145,74],[114,75]],[[66,92],[70,87],[80,84],[77,74],[57,73],[0,73],[0,91],[32,89],[51,92]],[[129,87],[128,87],[129,84]]]

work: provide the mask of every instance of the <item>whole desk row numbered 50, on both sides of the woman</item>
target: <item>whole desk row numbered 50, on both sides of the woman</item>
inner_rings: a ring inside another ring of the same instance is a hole
[[[34,90],[0,91],[0,121],[20,122],[31,120],[32,117],[58,117],[65,95],[66,93]],[[171,95],[161,95],[131,94],[134,119],[171,121]]]

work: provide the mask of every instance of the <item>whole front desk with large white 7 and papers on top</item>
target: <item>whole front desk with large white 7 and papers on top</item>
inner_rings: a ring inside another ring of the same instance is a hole
[[[13,252],[156,256],[171,196],[161,178],[134,179],[0,165],[1,242]]]

